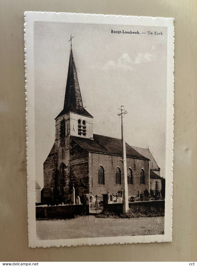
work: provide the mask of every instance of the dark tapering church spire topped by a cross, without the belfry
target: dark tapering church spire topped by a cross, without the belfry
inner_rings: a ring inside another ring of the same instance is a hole
[[[68,67],[68,77],[66,82],[66,92],[65,92],[65,99],[64,99],[64,109],[61,113],[57,116],[66,114],[69,111],[84,115],[87,117],[92,117],[83,107],[83,102],[81,98],[81,92],[77,77],[77,70],[74,63],[73,52],[72,52],[72,38],[70,36],[71,47],[70,47],[70,60],[69,60],[69,67]]]

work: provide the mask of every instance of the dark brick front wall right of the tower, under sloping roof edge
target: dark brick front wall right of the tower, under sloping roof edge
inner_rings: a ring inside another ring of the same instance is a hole
[[[89,152],[74,140],[70,143],[70,184],[74,184],[75,197],[89,193]]]

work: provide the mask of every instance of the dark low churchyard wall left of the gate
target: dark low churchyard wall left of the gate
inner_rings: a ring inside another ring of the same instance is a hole
[[[80,205],[60,205],[60,206],[36,206],[36,219],[44,218],[72,218],[74,215],[82,214],[82,204]]]

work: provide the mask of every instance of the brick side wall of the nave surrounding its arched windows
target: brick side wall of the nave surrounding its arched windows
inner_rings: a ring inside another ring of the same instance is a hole
[[[116,185],[116,169],[120,168],[122,172],[121,157],[115,155],[104,155],[100,153],[90,153],[90,191],[94,196],[102,194],[115,194],[121,190],[122,185]],[[102,165],[105,171],[105,185],[98,185],[98,168]],[[149,184],[149,161],[127,158],[127,169],[131,168],[133,172],[133,185],[128,185],[128,196],[137,195],[138,190],[144,192],[150,191]],[[145,172],[145,184],[140,185],[141,168]]]

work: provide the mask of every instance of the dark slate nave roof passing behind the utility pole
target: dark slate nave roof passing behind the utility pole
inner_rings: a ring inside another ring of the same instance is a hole
[[[93,134],[93,139],[71,136],[82,148],[89,152],[98,152],[110,155],[122,155],[121,139]],[[149,160],[126,143],[126,155],[136,159]]]

